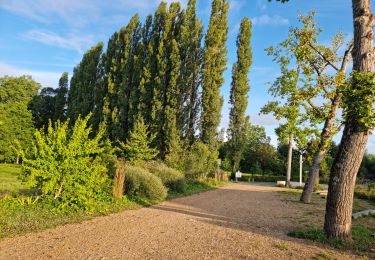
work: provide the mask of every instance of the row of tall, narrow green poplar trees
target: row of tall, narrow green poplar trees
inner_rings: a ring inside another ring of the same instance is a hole
[[[189,0],[186,9],[179,3],[168,6],[162,2],[143,24],[134,15],[110,37],[106,49],[99,43],[84,54],[74,68],[70,88],[67,74],[63,74],[56,91],[67,93],[67,111],[41,118],[74,122],[92,113],[94,132],[105,125],[112,142],[126,141],[135,122],[143,120],[150,135],[156,136],[152,146],[162,159],[181,142],[200,140],[217,150],[228,10],[226,0],[213,0],[205,35],[196,14],[196,0]],[[251,22],[244,18],[230,95],[229,135],[237,143],[246,121],[250,37]]]

